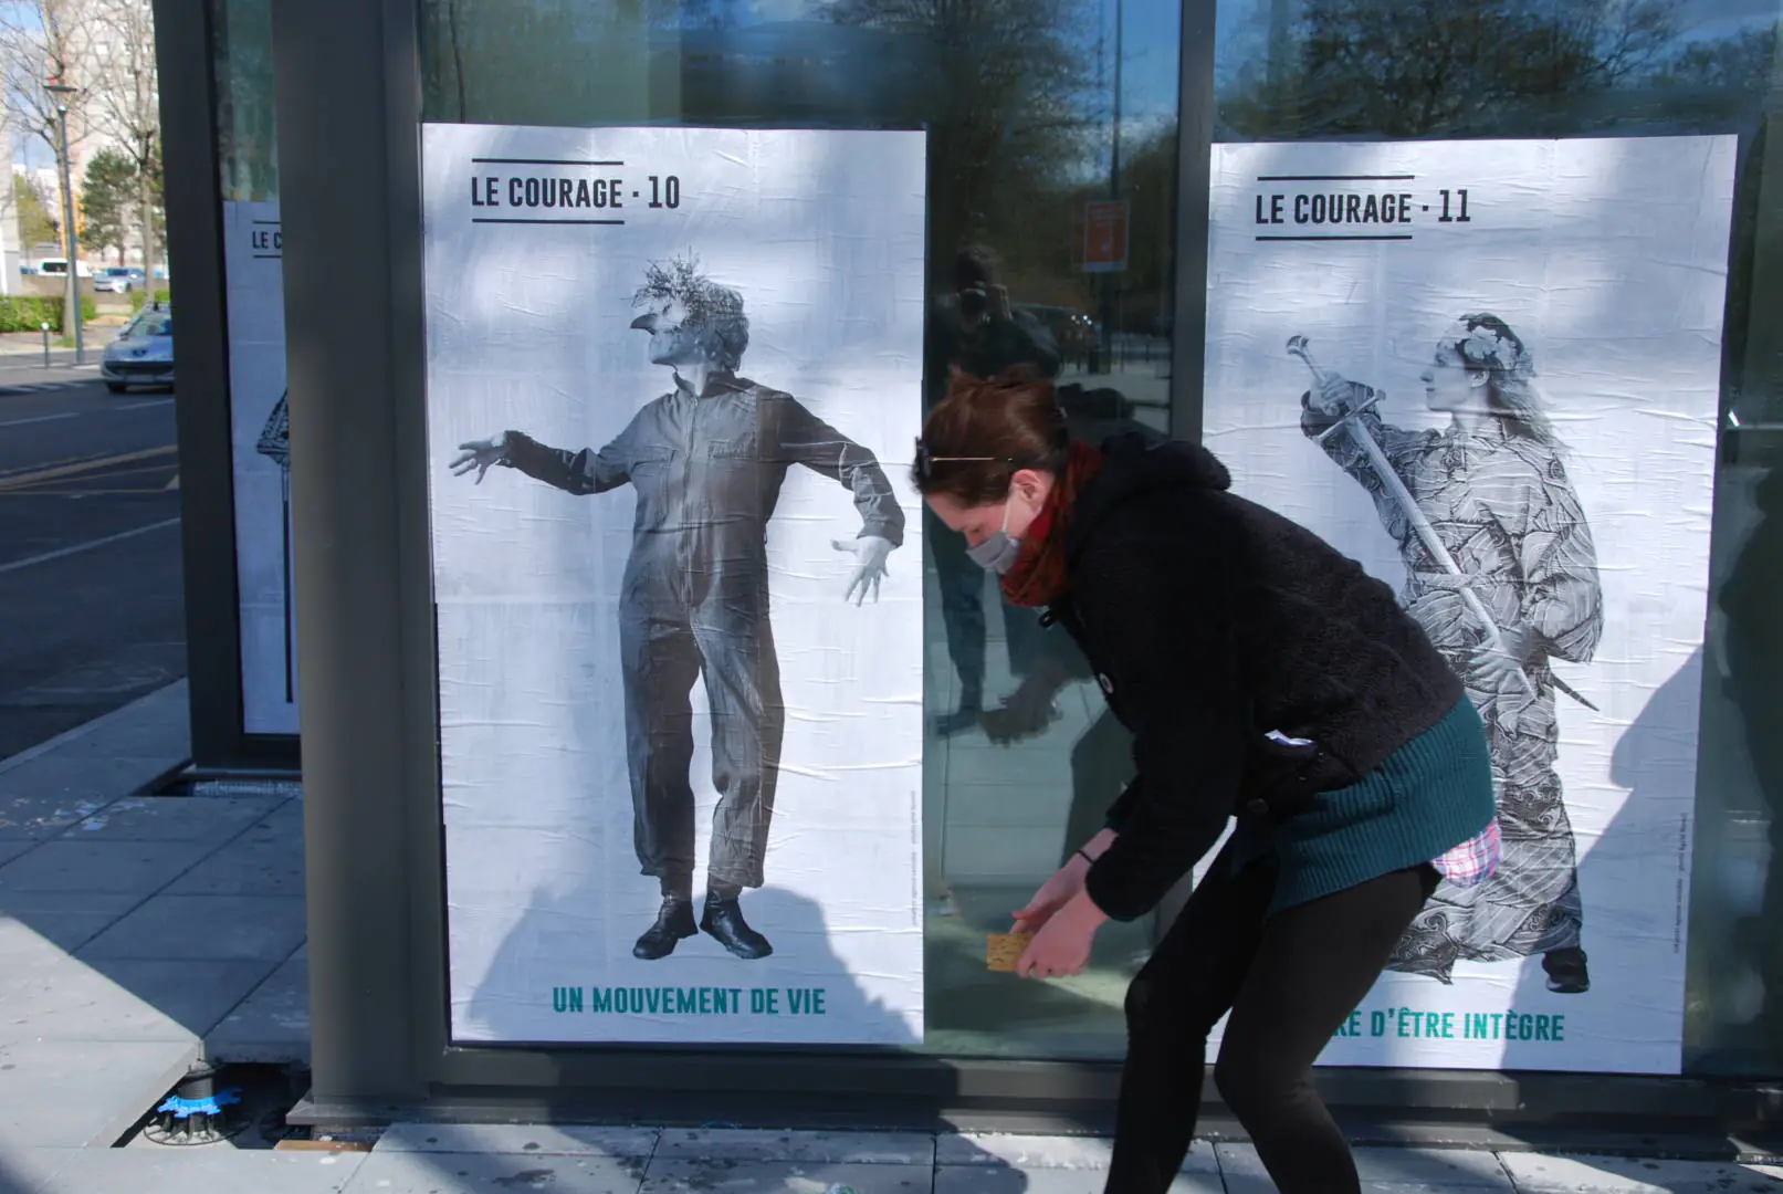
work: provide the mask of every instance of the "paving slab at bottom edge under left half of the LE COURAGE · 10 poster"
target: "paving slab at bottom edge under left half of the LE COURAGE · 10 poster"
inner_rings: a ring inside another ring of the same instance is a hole
[[[390,1149],[366,1155],[366,1162],[344,1190],[346,1194],[526,1194],[528,1190],[637,1194],[642,1180],[644,1162],[638,1158]],[[822,1194],[822,1189],[815,1187],[811,1194]]]

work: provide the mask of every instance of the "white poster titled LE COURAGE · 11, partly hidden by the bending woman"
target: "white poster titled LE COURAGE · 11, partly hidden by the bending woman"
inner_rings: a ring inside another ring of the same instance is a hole
[[[1676,1073],[1731,137],[1214,146],[1207,446],[1467,683],[1503,864],[1327,1064]]]

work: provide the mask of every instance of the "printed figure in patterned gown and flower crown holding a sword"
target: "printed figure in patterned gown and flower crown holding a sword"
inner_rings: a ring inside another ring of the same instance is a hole
[[[1373,497],[1405,561],[1403,602],[1462,675],[1485,720],[1498,791],[1503,859],[1475,887],[1441,884],[1394,950],[1389,969],[1451,982],[1457,961],[1542,955],[1548,987],[1589,989],[1580,948],[1583,907],[1573,827],[1562,800],[1557,677],[1549,659],[1585,663],[1603,631],[1590,527],[1560,460],[1560,444],[1530,381],[1523,342],[1494,315],[1467,315],[1437,346],[1425,372],[1434,410],[1457,410],[1442,394],[1473,394],[1475,417],[1455,413],[1444,431],[1409,431],[1375,410],[1355,413],[1405,490],[1435,529],[1460,574],[1521,663],[1491,677],[1480,668],[1485,633],[1460,586],[1419,540],[1400,497],[1375,476],[1357,437],[1323,440],[1332,460]],[[1307,396],[1302,428],[1325,433],[1373,392],[1353,383],[1353,401],[1321,410]],[[1466,406],[1467,397],[1458,405]],[[1530,691],[1533,688],[1533,693]],[[1564,691],[1564,684],[1560,684]]]

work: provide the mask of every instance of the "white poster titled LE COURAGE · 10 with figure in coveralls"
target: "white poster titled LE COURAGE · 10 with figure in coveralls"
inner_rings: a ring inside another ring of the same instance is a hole
[[[922,1041],[922,134],[423,132],[455,1039]]]

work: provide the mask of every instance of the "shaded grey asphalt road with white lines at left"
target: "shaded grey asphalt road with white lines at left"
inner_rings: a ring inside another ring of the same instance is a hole
[[[178,520],[171,394],[0,362],[0,759],[185,675]]]

